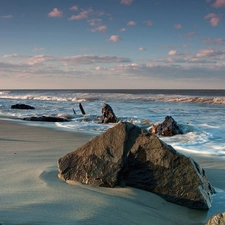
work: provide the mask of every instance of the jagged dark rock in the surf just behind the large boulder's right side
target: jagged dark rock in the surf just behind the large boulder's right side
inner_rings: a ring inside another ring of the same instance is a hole
[[[158,134],[162,136],[173,136],[183,133],[177,122],[171,116],[166,116],[162,123],[153,124],[151,132],[152,134]]]

